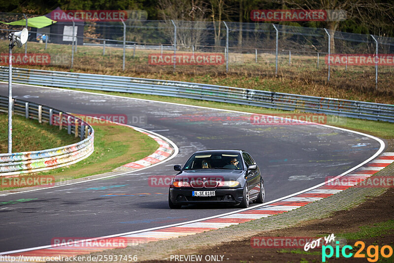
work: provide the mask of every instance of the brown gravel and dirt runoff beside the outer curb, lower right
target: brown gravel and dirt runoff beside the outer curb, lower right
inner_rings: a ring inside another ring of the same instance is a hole
[[[393,151],[391,140],[388,146],[386,151]],[[394,164],[391,164],[374,176],[393,175]],[[316,255],[316,253],[315,255],[296,255],[279,253],[278,248],[253,248],[250,245],[250,239],[252,236],[324,236],[335,232],[358,231],[359,226],[393,219],[393,199],[393,188],[352,187],[287,213],[219,230],[139,244],[124,249],[106,250],[91,255],[137,255],[138,262],[149,263],[169,262],[171,255],[228,255],[226,258],[229,260],[224,259],[225,262],[237,263],[288,262],[296,258],[300,261],[301,258],[308,257],[314,259],[312,262],[321,262],[321,255]],[[315,231],[310,232],[311,229]],[[394,234],[387,235],[387,237],[394,240]],[[387,245],[387,242],[383,245]],[[393,244],[391,246],[393,247]],[[262,252],[266,255],[260,255]],[[257,258],[258,255],[260,255],[259,258]],[[344,260],[344,258],[340,259]],[[347,260],[357,262],[355,258]],[[366,262],[366,259],[362,260]]]

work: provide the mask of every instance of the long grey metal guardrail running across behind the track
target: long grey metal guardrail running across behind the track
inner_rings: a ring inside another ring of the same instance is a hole
[[[13,68],[13,81],[50,87],[78,88],[204,99],[281,110],[298,110],[351,118],[394,122],[394,105],[241,89],[190,82]],[[0,67],[8,81],[8,68]]]

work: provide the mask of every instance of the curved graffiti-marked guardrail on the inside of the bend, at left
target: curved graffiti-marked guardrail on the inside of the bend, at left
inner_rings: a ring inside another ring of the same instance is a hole
[[[8,98],[0,96],[0,111],[7,112],[7,109]],[[89,157],[94,151],[94,130],[77,117],[21,99],[13,100],[13,113],[23,115],[27,119],[38,120],[39,123],[48,122],[50,125],[59,126],[59,129],[66,129],[68,134],[79,136],[81,141],[42,151],[0,154],[0,177],[46,171],[75,164]]]

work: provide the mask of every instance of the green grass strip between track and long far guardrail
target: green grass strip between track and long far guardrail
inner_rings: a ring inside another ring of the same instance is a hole
[[[77,90],[77,91],[99,93],[99,94],[109,94],[109,95],[116,95],[116,96],[123,96],[129,98],[137,98],[137,99],[151,99],[157,101],[175,102],[175,103],[186,104],[186,105],[196,105],[203,107],[212,107],[217,109],[236,110],[236,111],[243,111],[243,112],[250,112],[257,114],[278,114],[278,113],[290,112],[283,110],[267,109],[267,108],[256,107],[256,106],[239,105],[239,104],[198,100],[198,99],[172,98],[165,96],[144,95],[144,94],[134,94],[134,93],[92,91],[86,89],[69,89],[69,90]],[[328,115],[327,125],[350,129],[359,132],[365,132],[385,139],[394,138],[394,123],[389,123],[389,122],[368,121],[368,120],[361,120],[355,118],[335,117]]]

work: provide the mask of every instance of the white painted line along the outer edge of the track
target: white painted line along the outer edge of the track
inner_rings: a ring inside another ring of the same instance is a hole
[[[2,82],[2,81],[0,81],[0,83],[8,83],[8,82]],[[35,85],[29,85],[29,84],[18,84],[18,85],[30,86],[30,87],[36,87],[36,88],[42,88],[42,89],[53,89],[53,90],[58,90],[58,91],[61,90],[61,91],[67,91],[67,92],[76,92],[76,93],[84,93],[84,94],[93,94],[93,95],[99,95],[99,96],[109,96],[109,97],[122,98],[122,99],[136,99],[136,98],[130,98],[130,97],[117,96],[117,95],[100,94],[100,93],[85,92],[85,91],[73,91],[73,90],[67,90],[67,89],[42,87],[42,86],[35,86]],[[136,99],[136,100],[153,101],[153,102],[157,102],[157,103],[165,103],[165,104],[172,104],[172,105],[182,105],[182,106],[189,106],[189,107],[196,107],[196,108],[204,108],[204,109],[212,109],[212,110],[219,110],[219,111],[236,112],[236,113],[242,113],[242,114],[256,114],[256,113],[250,113],[250,112],[243,112],[243,111],[236,111],[236,110],[226,110],[226,109],[217,109],[217,108],[211,108],[211,107],[187,105],[187,104],[174,103],[174,102],[165,102],[165,101],[157,101],[157,100],[151,100],[151,99]],[[260,114],[260,115],[264,115],[264,114]],[[360,135],[362,135],[362,136],[366,136],[366,137],[372,138],[372,139],[374,139],[374,140],[376,140],[376,141],[378,141],[378,142],[380,143],[380,148],[379,148],[379,150],[378,150],[373,156],[371,156],[370,158],[368,158],[368,159],[365,160],[364,162],[362,162],[362,163],[360,163],[360,164],[354,166],[353,168],[350,168],[349,170],[347,170],[347,171],[341,173],[340,175],[335,176],[334,178],[328,180],[328,182],[320,183],[320,184],[315,185],[315,186],[313,186],[313,187],[310,187],[310,188],[308,188],[308,189],[305,189],[305,190],[299,191],[299,192],[297,192],[297,193],[288,195],[288,196],[286,196],[286,197],[280,197],[280,198],[277,198],[277,199],[275,199],[275,200],[272,200],[272,201],[269,201],[269,202],[266,202],[266,203],[263,203],[263,204],[255,205],[255,206],[252,206],[252,207],[249,207],[249,208],[244,208],[244,209],[240,209],[240,210],[236,210],[236,211],[232,211],[232,212],[228,212],[228,213],[224,213],[224,214],[220,214],[220,215],[216,215],[216,216],[211,216],[211,217],[206,217],[206,218],[202,218],[202,219],[197,219],[197,220],[192,220],[192,221],[188,221],[188,222],[183,222],[183,223],[178,223],[178,224],[173,224],[173,225],[167,225],[167,226],[162,226],[162,227],[156,227],[156,228],[151,228],[151,229],[136,230],[136,231],[131,231],[131,232],[125,232],[125,233],[119,233],[119,234],[113,234],[113,235],[107,235],[107,236],[100,236],[100,237],[97,237],[97,238],[94,238],[94,239],[91,239],[91,240],[103,239],[103,238],[111,238],[111,237],[118,237],[118,236],[130,235],[130,234],[141,233],[141,232],[146,232],[146,231],[151,231],[151,230],[159,230],[159,229],[164,229],[164,228],[182,226],[182,225],[185,225],[185,224],[197,223],[197,222],[199,222],[199,221],[204,221],[204,220],[208,220],[208,219],[212,219],[212,218],[217,218],[217,217],[223,217],[223,216],[227,216],[227,215],[239,213],[239,212],[242,212],[242,211],[247,211],[247,210],[251,210],[251,209],[256,209],[256,208],[259,208],[259,207],[263,207],[263,206],[266,206],[266,205],[268,205],[268,204],[270,204],[270,203],[274,203],[274,202],[277,202],[277,201],[280,201],[280,200],[283,200],[283,199],[286,199],[286,198],[289,198],[289,197],[294,197],[294,196],[296,196],[296,195],[299,195],[299,194],[308,192],[308,191],[310,191],[310,190],[313,190],[313,189],[315,189],[315,188],[318,188],[318,187],[320,187],[320,186],[323,186],[323,185],[325,185],[325,184],[327,184],[327,183],[329,183],[329,182],[332,182],[332,181],[334,181],[334,180],[336,180],[336,179],[338,179],[338,178],[340,178],[340,177],[342,177],[342,176],[344,176],[344,175],[346,175],[346,174],[348,174],[348,173],[350,173],[350,172],[356,170],[357,168],[361,167],[362,165],[364,165],[364,164],[366,164],[366,163],[372,161],[372,160],[375,159],[379,154],[381,154],[381,153],[383,152],[383,150],[385,149],[385,143],[384,143],[384,141],[381,140],[381,139],[379,139],[379,138],[377,138],[377,137],[375,137],[375,136],[372,136],[372,135],[369,135],[369,134],[365,134],[365,133],[362,133],[362,132],[356,132],[356,131],[344,129],[344,128],[333,127],[333,126],[329,126],[329,125],[323,125],[323,124],[314,124],[314,125],[321,125],[321,126],[325,126],[325,127],[328,127],[328,128],[341,130],[341,131],[353,132],[353,133],[356,133],[356,134],[360,134]],[[141,130],[142,130],[142,129],[141,129]],[[159,135],[159,134],[158,134],[158,135]],[[151,165],[151,166],[152,166],[152,165]],[[148,166],[148,167],[151,167],[151,166]],[[148,167],[145,167],[145,168],[148,168]],[[144,168],[142,168],[142,169],[144,169]],[[101,179],[101,178],[100,178],[100,179]],[[37,189],[37,190],[40,190],[40,189]],[[341,190],[341,191],[342,191],[342,190]],[[341,191],[338,191],[338,192],[341,192]],[[322,192],[320,192],[320,193],[322,193]],[[229,224],[231,224],[231,225],[237,225],[238,223],[229,223]],[[73,244],[74,244],[74,243],[83,242],[83,241],[84,241],[84,240],[78,240],[78,241],[73,242]],[[20,252],[26,252],[26,251],[37,250],[37,249],[44,249],[44,248],[51,248],[51,247],[52,247],[51,245],[46,245],[46,246],[40,246],[40,247],[33,247],[33,248],[19,249],[19,250],[13,250],[13,251],[6,251],[6,252],[1,252],[0,255],[13,254],[13,253],[20,253]]]

